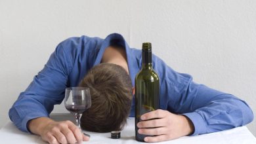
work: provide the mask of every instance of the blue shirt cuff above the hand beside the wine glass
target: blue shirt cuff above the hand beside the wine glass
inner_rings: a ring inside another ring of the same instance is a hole
[[[28,132],[28,133],[32,134],[32,132],[30,132],[30,130],[28,129],[28,121],[32,120],[34,118],[39,118],[39,117],[49,117],[49,115],[45,115],[44,113],[30,113],[30,115],[26,116],[22,120],[21,130],[24,131],[24,132]]]

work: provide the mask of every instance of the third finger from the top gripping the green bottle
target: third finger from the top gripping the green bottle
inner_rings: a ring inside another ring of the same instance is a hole
[[[144,135],[163,135],[168,134],[168,130],[166,127],[160,127],[160,128],[140,128],[138,130],[139,134]]]

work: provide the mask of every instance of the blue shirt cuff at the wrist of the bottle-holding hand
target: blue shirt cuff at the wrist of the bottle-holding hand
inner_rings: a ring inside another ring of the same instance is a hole
[[[206,133],[205,121],[203,120],[200,114],[193,112],[193,113],[184,113],[182,115],[190,118],[190,120],[194,124],[194,133],[191,134],[191,136]]]

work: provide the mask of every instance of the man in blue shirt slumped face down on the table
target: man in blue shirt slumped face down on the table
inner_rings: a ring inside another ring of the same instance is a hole
[[[177,73],[157,56],[152,61],[160,75],[161,109],[141,116],[145,121],[138,124],[139,133],[157,135],[145,137],[146,142],[217,132],[253,120],[244,101],[196,84],[190,75]],[[20,94],[9,117],[20,130],[40,135],[49,143],[88,141],[89,137],[72,122],[49,118],[53,105],[64,98],[65,88],[80,85],[91,89],[92,98],[91,109],[81,118],[82,128],[95,132],[121,130],[127,116],[135,115],[132,87],[140,67],[141,50],[129,48],[117,33],[106,39],[72,37],[57,46],[45,67]]]

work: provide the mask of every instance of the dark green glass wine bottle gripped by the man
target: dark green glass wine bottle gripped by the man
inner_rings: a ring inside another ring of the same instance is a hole
[[[138,133],[137,123],[144,113],[159,109],[160,82],[156,71],[152,67],[151,43],[142,44],[142,69],[135,78],[135,137],[137,141],[144,141],[144,137]]]

